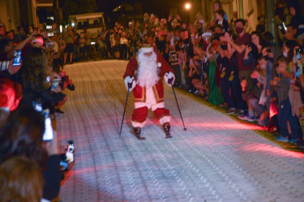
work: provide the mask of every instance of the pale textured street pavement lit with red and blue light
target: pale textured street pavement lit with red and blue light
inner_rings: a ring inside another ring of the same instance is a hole
[[[62,150],[75,142],[76,162],[61,187],[68,201],[304,201],[304,155],[281,149],[191,97],[165,87],[171,134],[149,112],[145,141],[131,133],[133,94],[126,99],[126,61],[66,67],[75,91],[65,90],[65,114],[56,114]]]

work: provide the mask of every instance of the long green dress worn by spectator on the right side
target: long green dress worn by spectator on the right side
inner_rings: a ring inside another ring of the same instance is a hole
[[[219,105],[224,102],[221,90],[215,83],[215,69],[216,64],[214,61],[209,62],[209,97],[208,102]]]

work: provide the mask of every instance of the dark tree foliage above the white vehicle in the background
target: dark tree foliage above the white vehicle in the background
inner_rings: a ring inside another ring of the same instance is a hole
[[[96,0],[59,0],[62,7],[64,23],[68,23],[69,15],[93,13],[96,11]]]

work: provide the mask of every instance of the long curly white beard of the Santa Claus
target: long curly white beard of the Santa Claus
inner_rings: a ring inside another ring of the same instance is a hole
[[[136,72],[137,84],[141,87],[151,88],[159,80],[159,68],[157,67],[157,55],[152,52],[152,55],[147,57],[143,53],[138,54],[139,66]]]

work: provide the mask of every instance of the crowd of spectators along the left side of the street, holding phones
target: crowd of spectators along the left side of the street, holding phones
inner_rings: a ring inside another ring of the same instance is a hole
[[[5,32],[0,24],[0,201],[53,200],[64,178],[56,131],[43,138],[51,127],[46,112],[49,120],[64,113],[62,91],[74,85],[59,56],[65,43],[50,32]]]

